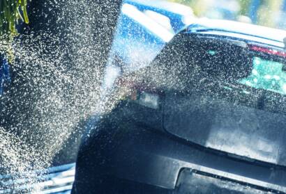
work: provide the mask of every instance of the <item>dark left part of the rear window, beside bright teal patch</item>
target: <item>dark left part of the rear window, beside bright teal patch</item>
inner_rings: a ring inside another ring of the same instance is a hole
[[[237,43],[212,39],[193,42],[189,57],[191,63],[200,67],[200,79],[233,82],[249,76],[252,58]]]

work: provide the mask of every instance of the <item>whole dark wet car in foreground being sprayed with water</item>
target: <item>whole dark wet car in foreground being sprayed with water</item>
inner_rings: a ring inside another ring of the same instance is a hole
[[[286,31],[208,21],[117,81],[74,193],[286,193]]]

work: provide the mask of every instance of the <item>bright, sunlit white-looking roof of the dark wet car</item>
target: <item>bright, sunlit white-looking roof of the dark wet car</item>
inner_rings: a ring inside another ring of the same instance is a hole
[[[256,38],[257,40],[259,39],[259,42],[265,44],[269,44],[269,40],[283,44],[283,39],[286,38],[286,31],[280,29],[271,29],[265,26],[233,22],[223,19],[197,19],[197,21],[188,26],[186,31],[243,36],[246,39]]]

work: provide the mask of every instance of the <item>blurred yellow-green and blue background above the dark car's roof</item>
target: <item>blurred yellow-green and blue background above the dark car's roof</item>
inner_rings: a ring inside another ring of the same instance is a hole
[[[286,0],[168,0],[190,6],[197,17],[230,19],[286,29]]]

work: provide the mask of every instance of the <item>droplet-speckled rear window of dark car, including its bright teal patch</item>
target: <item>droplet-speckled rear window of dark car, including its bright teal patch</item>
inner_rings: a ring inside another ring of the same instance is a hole
[[[240,79],[236,79],[237,83],[250,88],[276,92],[281,95],[286,94],[286,72],[283,70],[283,67],[285,67],[283,60],[274,60],[271,56],[264,58],[257,54],[242,54],[244,53],[242,50],[229,45],[209,47],[209,45],[208,48],[201,47],[202,50],[199,56],[202,59],[200,60],[200,66],[204,70],[211,70],[211,77],[214,77],[213,74],[218,74],[217,71],[223,72],[227,75],[225,76],[225,81],[229,82],[227,78],[233,76],[233,74],[227,73],[228,71],[237,71],[237,74],[241,75],[243,71],[249,71],[247,70],[248,68],[243,66],[250,65],[250,72],[244,74]],[[250,60],[243,60],[245,57],[248,57]],[[223,70],[218,66],[224,66]],[[236,68],[236,66],[241,67]],[[209,71],[208,74],[210,74]]]

